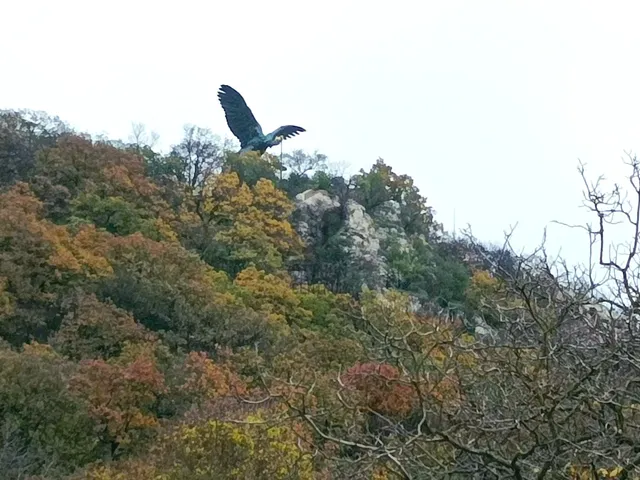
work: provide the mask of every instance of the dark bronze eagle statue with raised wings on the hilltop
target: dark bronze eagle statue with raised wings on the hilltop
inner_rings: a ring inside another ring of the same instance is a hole
[[[240,140],[239,153],[253,150],[262,155],[267,148],[275,147],[282,140],[306,131],[296,125],[283,125],[265,135],[244,98],[235,89],[229,85],[221,85],[218,90],[218,99],[224,110],[227,125]]]

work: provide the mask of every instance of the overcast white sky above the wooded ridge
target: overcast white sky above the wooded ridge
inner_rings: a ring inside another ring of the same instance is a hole
[[[177,142],[185,123],[231,136],[216,90],[265,130],[306,133],[353,171],[411,175],[437,219],[486,241],[519,224],[584,221],[578,160],[618,178],[640,149],[640,4],[631,1],[0,2],[0,108],[126,138]],[[277,152],[275,152],[277,153]],[[577,233],[551,226],[575,257]]]

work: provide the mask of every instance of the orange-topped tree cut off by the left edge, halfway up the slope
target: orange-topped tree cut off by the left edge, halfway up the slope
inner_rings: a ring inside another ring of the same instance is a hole
[[[24,183],[1,194],[0,336],[14,344],[46,340],[64,294],[112,273],[105,245],[93,226],[74,233],[44,219]]]

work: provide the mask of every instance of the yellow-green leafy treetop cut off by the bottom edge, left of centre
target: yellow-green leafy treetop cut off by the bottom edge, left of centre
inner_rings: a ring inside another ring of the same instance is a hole
[[[268,427],[259,417],[240,424],[184,423],[166,434],[144,461],[96,465],[81,478],[312,480],[312,457],[300,447],[299,429]]]

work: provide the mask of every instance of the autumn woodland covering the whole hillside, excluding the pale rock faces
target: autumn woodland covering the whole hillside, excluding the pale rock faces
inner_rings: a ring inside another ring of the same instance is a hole
[[[383,160],[233,152],[0,112],[1,478],[640,478],[634,158],[631,204],[585,180],[578,270],[452,238]],[[339,205],[313,242],[310,189]],[[347,207],[389,201],[371,285]]]

